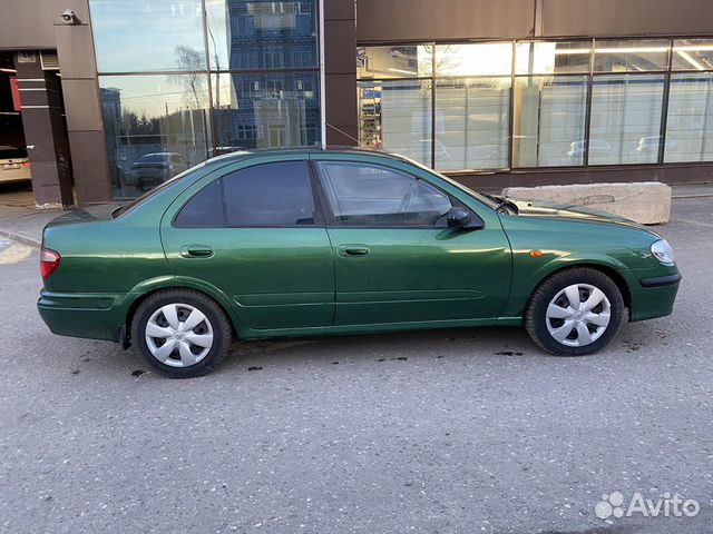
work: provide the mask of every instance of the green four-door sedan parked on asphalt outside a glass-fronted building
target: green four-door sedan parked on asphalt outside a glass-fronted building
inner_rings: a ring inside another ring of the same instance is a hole
[[[211,372],[235,337],[524,325],[541,349],[584,355],[671,314],[681,279],[631,220],[358,149],[214,158],[42,239],[49,328],[133,343],[169,377]]]

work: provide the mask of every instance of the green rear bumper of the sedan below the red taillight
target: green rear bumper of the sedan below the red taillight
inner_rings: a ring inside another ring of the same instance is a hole
[[[42,290],[37,309],[52,334],[118,340],[126,323],[124,296]]]

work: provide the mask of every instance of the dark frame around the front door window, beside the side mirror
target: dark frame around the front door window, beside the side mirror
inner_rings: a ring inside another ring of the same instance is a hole
[[[312,159],[310,161],[310,165],[312,167],[312,170],[313,170],[314,176],[316,178],[318,187],[320,189],[319,190],[320,202],[322,204],[322,211],[323,211],[323,214],[325,216],[326,228],[365,229],[365,230],[367,229],[368,230],[438,230],[438,231],[453,230],[453,228],[450,228],[447,222],[443,222],[442,225],[395,225],[395,224],[390,224],[390,225],[345,225],[345,224],[342,224],[342,222],[338,221],[336,217],[334,215],[334,211],[332,209],[332,206],[329,202],[329,198],[328,198],[326,189],[325,189],[325,185],[324,185],[324,180],[326,180],[326,178],[321,172],[321,169],[320,169],[320,166],[319,166],[320,162],[324,162],[324,164],[356,164],[356,165],[363,165],[363,166],[378,167],[378,168],[382,168],[382,169],[387,169],[387,170],[391,170],[391,171],[397,171],[397,172],[400,172],[402,175],[407,175],[407,176],[413,178],[417,181],[423,181],[423,182],[428,184],[429,186],[431,186],[432,188],[437,189],[441,195],[448,197],[448,199],[450,200],[451,209],[452,208],[457,208],[457,207],[466,209],[470,214],[471,218],[475,221],[479,221],[482,225],[482,228],[485,228],[485,221],[482,220],[482,218],[480,218],[480,216],[475,210],[472,210],[470,207],[466,206],[463,202],[461,202],[453,195],[451,195],[448,191],[443,190],[443,188],[439,187],[438,185],[433,184],[430,180],[426,180],[426,179],[414,175],[413,172],[409,172],[409,171],[403,170],[403,169],[391,167],[391,166],[385,165],[383,162],[360,161],[360,160],[356,160],[356,159],[318,158],[318,159]]]

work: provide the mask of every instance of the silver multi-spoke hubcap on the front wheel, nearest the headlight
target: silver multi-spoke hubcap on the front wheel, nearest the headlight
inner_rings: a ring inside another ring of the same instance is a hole
[[[559,291],[547,307],[549,334],[568,347],[596,342],[609,325],[612,306],[604,293],[589,284],[573,284]]]

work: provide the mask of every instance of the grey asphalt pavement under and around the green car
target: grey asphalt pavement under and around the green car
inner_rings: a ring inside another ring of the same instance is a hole
[[[51,335],[37,250],[0,238],[0,531],[711,532],[713,198],[658,231],[673,316],[593,356],[436,330],[237,344],[191,380]],[[700,510],[627,517],[636,494]]]

